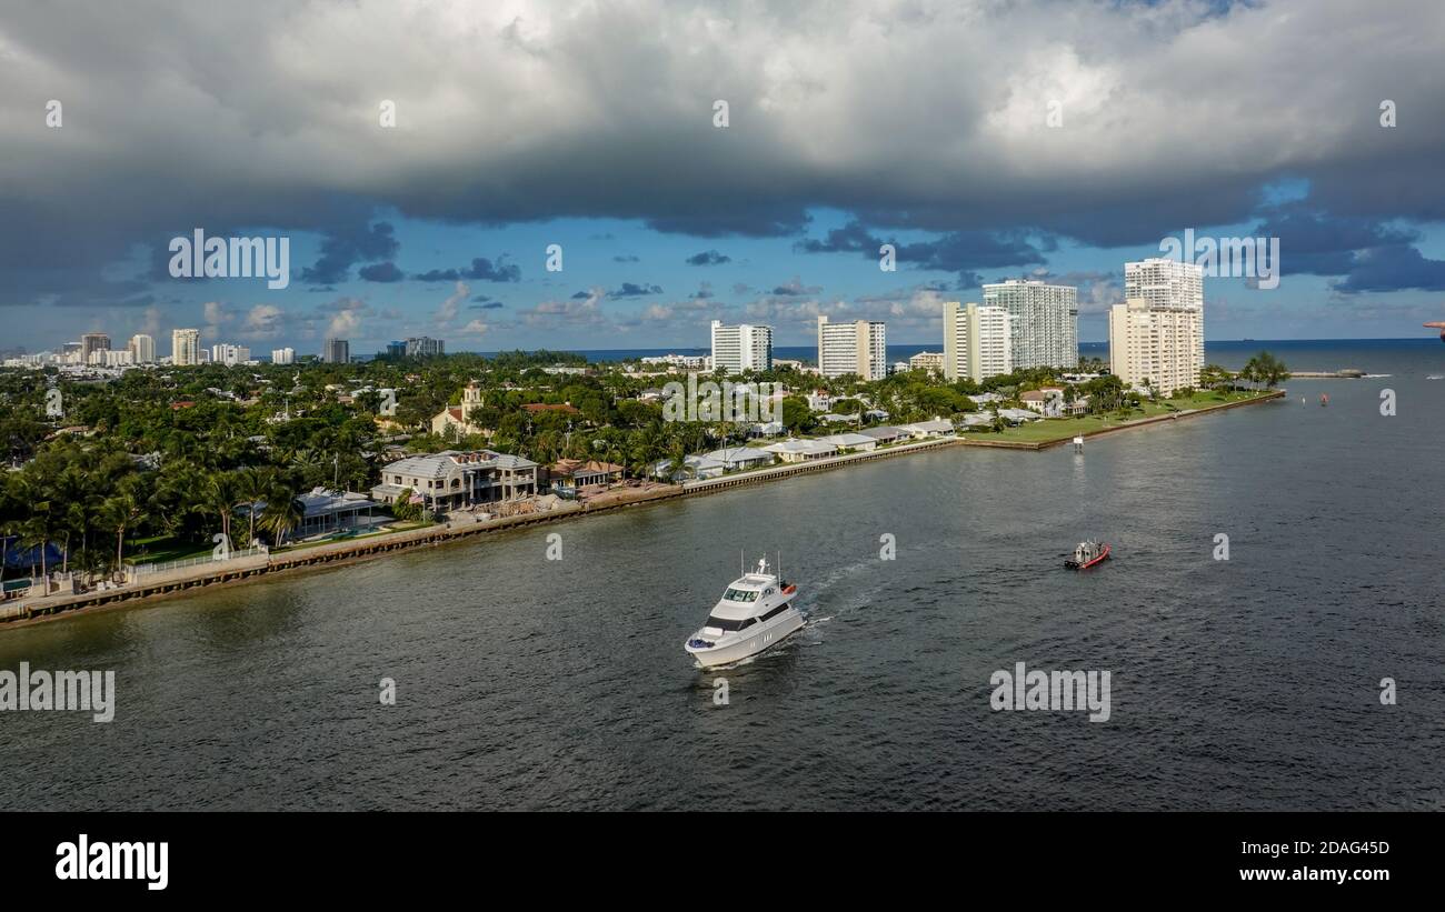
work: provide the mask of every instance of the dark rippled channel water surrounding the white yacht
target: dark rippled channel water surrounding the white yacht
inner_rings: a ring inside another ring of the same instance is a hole
[[[1272,348],[1390,377],[0,631],[120,690],[0,713],[0,807],[1445,808],[1445,346]],[[1116,558],[1062,570],[1088,535]],[[701,672],[740,547],[812,623]],[[993,711],[1016,662],[1110,671],[1111,719]]]

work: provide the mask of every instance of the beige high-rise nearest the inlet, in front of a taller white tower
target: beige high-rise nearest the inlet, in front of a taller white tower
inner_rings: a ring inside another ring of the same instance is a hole
[[[1204,312],[1155,307],[1143,297],[1108,310],[1108,369],[1126,385],[1149,385],[1159,395],[1199,385],[1204,368]]]

